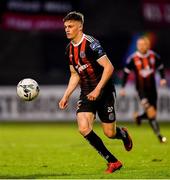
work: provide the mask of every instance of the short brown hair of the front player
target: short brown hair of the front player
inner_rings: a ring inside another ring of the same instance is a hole
[[[69,21],[69,20],[79,21],[83,24],[84,23],[84,15],[80,12],[72,11],[63,18],[63,22]]]

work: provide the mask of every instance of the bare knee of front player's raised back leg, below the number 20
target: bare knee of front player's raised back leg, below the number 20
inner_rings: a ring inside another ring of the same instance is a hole
[[[109,138],[115,137],[115,135],[116,135],[116,121],[114,121],[112,123],[102,122],[102,128],[103,128],[104,134],[107,137],[109,137]]]

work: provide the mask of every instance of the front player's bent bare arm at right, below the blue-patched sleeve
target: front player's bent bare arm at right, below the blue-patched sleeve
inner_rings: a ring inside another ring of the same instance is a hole
[[[96,100],[97,97],[100,95],[102,88],[105,86],[107,81],[110,79],[110,77],[112,76],[113,71],[114,71],[114,67],[106,55],[104,55],[100,59],[98,59],[97,62],[101,66],[103,66],[104,69],[103,69],[103,74],[102,74],[101,80],[99,81],[98,85],[92,92],[90,92],[87,95],[88,99],[92,100],[92,101]]]

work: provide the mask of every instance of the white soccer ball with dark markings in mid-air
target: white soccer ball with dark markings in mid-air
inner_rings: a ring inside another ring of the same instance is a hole
[[[23,79],[17,85],[17,95],[24,101],[32,101],[38,96],[39,91],[39,85],[34,79]]]

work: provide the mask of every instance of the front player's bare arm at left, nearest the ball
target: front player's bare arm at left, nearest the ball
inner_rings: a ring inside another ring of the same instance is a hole
[[[60,109],[65,109],[68,106],[68,100],[73,91],[76,89],[77,85],[79,84],[80,77],[75,71],[74,67],[70,65],[70,80],[67,86],[67,89],[62,97],[62,99],[59,102],[59,108]]]

